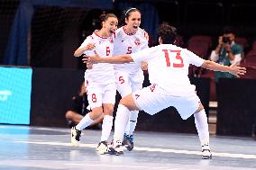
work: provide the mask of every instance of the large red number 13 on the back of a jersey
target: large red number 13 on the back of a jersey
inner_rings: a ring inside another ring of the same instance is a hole
[[[173,62],[172,67],[184,67],[183,58],[180,56],[180,50],[162,49],[162,51],[164,52],[167,67],[170,67],[169,52],[176,53],[176,61]]]

